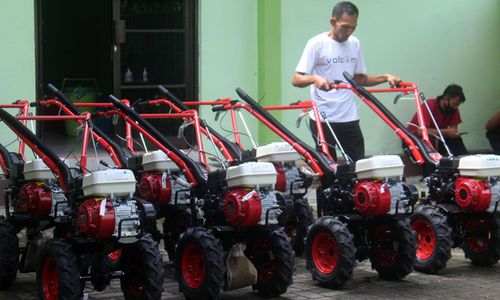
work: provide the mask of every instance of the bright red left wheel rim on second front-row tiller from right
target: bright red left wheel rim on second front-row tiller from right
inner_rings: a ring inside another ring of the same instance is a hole
[[[331,274],[337,267],[339,251],[337,241],[328,232],[320,232],[312,242],[312,260],[316,269],[323,274]]]

